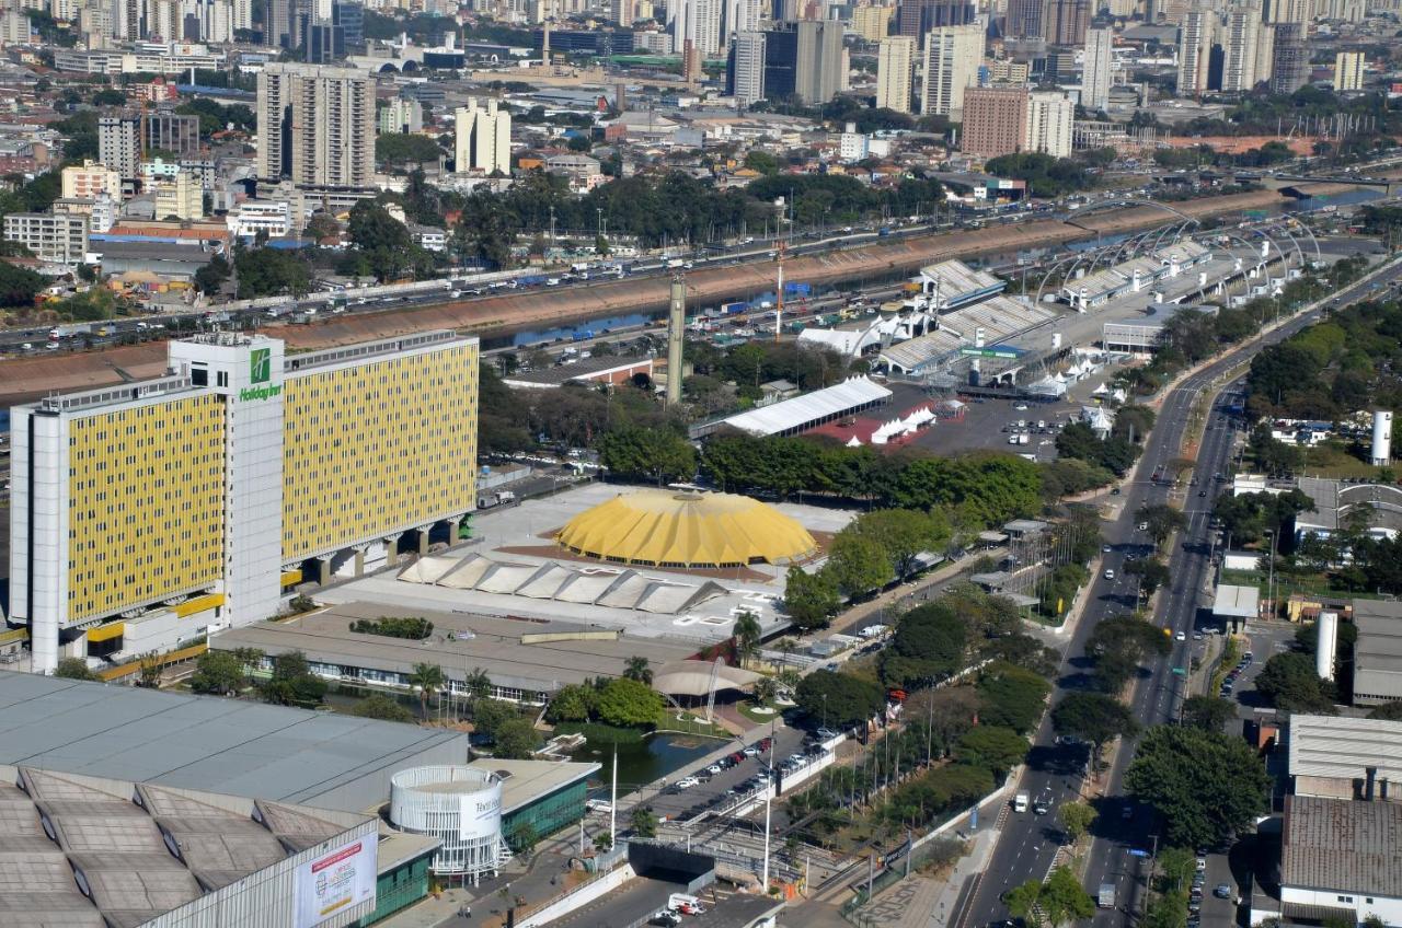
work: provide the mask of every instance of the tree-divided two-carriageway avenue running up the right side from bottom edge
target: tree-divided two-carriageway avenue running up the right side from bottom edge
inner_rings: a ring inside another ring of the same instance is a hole
[[[1373,282],[1347,287],[1338,299],[1342,303],[1357,301],[1371,293],[1374,282],[1385,286],[1399,276],[1402,276],[1402,266],[1392,266]],[[1053,702],[1066,692],[1087,687],[1089,666],[1084,660],[1085,642],[1096,622],[1108,615],[1123,614],[1133,608],[1137,590],[1133,580],[1124,576],[1124,561],[1141,554],[1151,544],[1151,540],[1136,528],[1136,510],[1144,505],[1168,502],[1169,495],[1176,492],[1186,493],[1183,513],[1187,516],[1189,524],[1171,554],[1169,573],[1172,579],[1159,594],[1154,621],[1175,635],[1179,631],[1185,632],[1186,641],[1175,641],[1172,653],[1166,659],[1155,662],[1141,674],[1131,698],[1134,716],[1145,726],[1176,718],[1178,707],[1186,694],[1183,692],[1185,678],[1173,674],[1173,667],[1187,667],[1193,649],[1200,648],[1200,643],[1192,641],[1192,631],[1199,617],[1199,606],[1210,601],[1207,600],[1211,571],[1209,523],[1214,496],[1220,489],[1213,474],[1227,472],[1237,436],[1237,423],[1228,418],[1224,402],[1216,402],[1207,419],[1195,471],[1196,484],[1186,484],[1185,478],[1186,485],[1175,491],[1166,485],[1166,481],[1164,485],[1154,484],[1150,475],[1159,468],[1166,468],[1173,458],[1179,457],[1179,449],[1189,428],[1189,414],[1204,393],[1214,393],[1223,385],[1220,381],[1228,371],[1249,360],[1263,346],[1276,343],[1315,321],[1318,313],[1319,310],[1314,310],[1300,315],[1270,335],[1223,356],[1185,378],[1164,398],[1157,426],[1145,444],[1137,478],[1124,488],[1119,498],[1123,509],[1113,521],[1103,527],[1110,551],[1103,555],[1101,573],[1092,580],[1088,592],[1091,599],[1078,625],[1066,642],[1060,676],[1052,697]],[[1106,571],[1113,571],[1113,579],[1106,578]],[[1089,784],[1092,789],[1087,789],[1088,795],[1103,792],[1110,799],[1098,803],[1101,817],[1094,830],[1085,886],[1095,894],[1102,882],[1113,882],[1119,890],[1116,894],[1119,906],[1115,910],[1098,911],[1094,922],[1096,928],[1129,924],[1131,914],[1137,914],[1143,907],[1140,899],[1145,876],[1141,869],[1143,858],[1130,852],[1152,849],[1154,821],[1144,809],[1130,809],[1130,817],[1123,817],[1126,802],[1116,799],[1122,795],[1120,779],[1131,756],[1133,743],[1122,743],[1113,756],[1106,757],[1109,770],[1101,774],[1101,777],[1108,777],[1103,789],[1102,784]],[[1042,796],[1049,798],[1052,810],[1046,816],[1036,816],[1032,812],[1019,814],[1008,809],[1000,816],[998,844],[986,871],[970,883],[970,889],[962,900],[963,910],[956,918],[956,925],[962,928],[988,925],[1008,918],[1007,907],[1001,900],[1002,894],[1028,879],[1043,879],[1056,864],[1064,862],[1064,855],[1059,855],[1064,835],[1060,831],[1056,810],[1064,802],[1080,799],[1084,768],[1084,749],[1054,744],[1049,714],[1036,732],[1018,791],[1028,792],[1033,800]]]

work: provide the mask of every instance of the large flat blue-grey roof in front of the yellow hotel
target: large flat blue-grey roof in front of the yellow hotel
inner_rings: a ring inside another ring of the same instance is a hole
[[[0,671],[0,764],[324,805],[328,793],[423,763],[436,749],[465,757],[467,736]]]

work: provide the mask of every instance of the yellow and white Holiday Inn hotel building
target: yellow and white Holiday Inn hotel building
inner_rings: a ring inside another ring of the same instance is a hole
[[[172,341],[154,380],[11,411],[11,621],[35,671],[135,657],[393,562],[475,507],[475,338]]]

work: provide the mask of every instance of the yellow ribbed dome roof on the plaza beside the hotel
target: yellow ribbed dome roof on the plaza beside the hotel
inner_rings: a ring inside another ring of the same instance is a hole
[[[756,499],[669,489],[620,493],[571,519],[558,538],[606,561],[677,568],[787,564],[817,550],[803,526]]]

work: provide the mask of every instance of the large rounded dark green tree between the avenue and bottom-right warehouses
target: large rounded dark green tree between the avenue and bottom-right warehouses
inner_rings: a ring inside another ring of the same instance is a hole
[[[1168,844],[1178,847],[1224,844],[1269,809],[1265,764],[1245,742],[1223,732],[1148,729],[1124,785],[1154,807]]]

